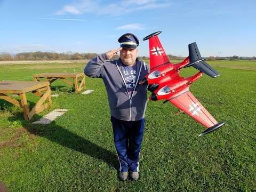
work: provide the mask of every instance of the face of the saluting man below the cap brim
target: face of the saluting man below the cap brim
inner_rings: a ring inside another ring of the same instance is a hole
[[[120,51],[120,58],[124,65],[133,66],[137,58],[138,49],[122,49]]]

